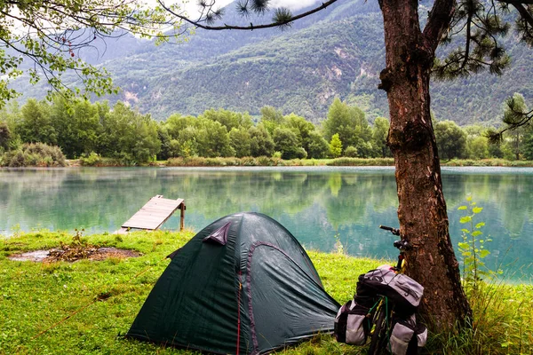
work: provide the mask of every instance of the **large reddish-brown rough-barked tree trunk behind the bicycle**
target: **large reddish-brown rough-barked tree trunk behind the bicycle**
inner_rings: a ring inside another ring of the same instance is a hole
[[[432,329],[463,324],[472,314],[449,240],[437,145],[430,117],[429,76],[438,40],[448,27],[453,2],[437,0],[420,30],[417,0],[380,0],[386,43],[386,69],[380,88],[387,92],[394,153],[398,218],[402,238],[413,245],[407,273],[425,288],[421,314]]]

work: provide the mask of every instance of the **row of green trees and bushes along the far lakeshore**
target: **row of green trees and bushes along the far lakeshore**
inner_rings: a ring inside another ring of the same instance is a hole
[[[523,103],[520,94],[514,99]],[[65,157],[87,164],[107,157],[125,165],[193,156],[385,158],[392,156],[386,146],[388,128],[386,118],[370,124],[360,108],[340,99],[315,125],[271,106],[264,106],[259,117],[210,109],[198,116],[171,114],[157,122],[120,101],[113,107],[106,101],[67,104],[58,96],[52,102],[29,99],[24,106],[14,102],[0,111],[0,165],[64,165]],[[489,144],[488,129],[434,120],[442,159],[533,160],[532,129],[510,131],[500,144]]]

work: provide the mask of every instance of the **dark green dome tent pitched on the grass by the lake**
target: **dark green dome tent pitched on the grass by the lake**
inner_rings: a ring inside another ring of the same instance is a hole
[[[261,354],[331,332],[338,308],[289,231],[265,215],[238,213],[171,254],[126,336]]]

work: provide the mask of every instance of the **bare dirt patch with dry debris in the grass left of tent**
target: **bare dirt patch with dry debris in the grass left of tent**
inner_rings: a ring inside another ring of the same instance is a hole
[[[128,257],[138,257],[140,253],[119,248],[84,248],[81,249],[51,249],[51,250],[34,250],[28,253],[14,254],[9,256],[13,261],[33,261],[33,262],[54,262],[54,261],[67,261],[75,262],[81,259],[89,260],[106,260],[113,257],[117,259],[125,259]]]

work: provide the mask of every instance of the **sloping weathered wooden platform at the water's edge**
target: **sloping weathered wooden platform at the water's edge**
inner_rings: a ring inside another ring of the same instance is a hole
[[[129,229],[154,231],[169,219],[176,209],[181,209],[180,230],[183,229],[185,201],[183,199],[163,199],[163,195],[152,197],[139,211],[123,223],[116,233],[126,233]]]

